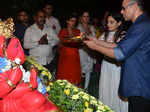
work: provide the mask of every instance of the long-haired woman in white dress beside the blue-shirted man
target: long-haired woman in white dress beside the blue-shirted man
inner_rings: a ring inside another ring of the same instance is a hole
[[[107,42],[117,42],[122,38],[121,15],[110,13],[107,18],[108,32],[105,32],[99,39]],[[128,112],[128,103],[121,100],[118,95],[120,82],[119,64],[108,57],[104,57],[101,66],[101,77],[99,83],[99,99],[110,106],[115,112]]]

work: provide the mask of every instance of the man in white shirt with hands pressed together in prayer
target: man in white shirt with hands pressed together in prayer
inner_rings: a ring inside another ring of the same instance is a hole
[[[37,62],[48,65],[54,57],[52,48],[59,39],[54,30],[45,25],[45,14],[42,10],[36,13],[34,20],[35,23],[25,32],[24,48],[29,49],[29,55]]]

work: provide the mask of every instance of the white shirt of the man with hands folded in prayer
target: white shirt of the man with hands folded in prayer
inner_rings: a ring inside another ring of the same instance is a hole
[[[45,34],[47,34],[48,44],[39,45],[39,40]],[[58,41],[59,39],[52,28],[44,26],[44,29],[40,30],[36,24],[33,24],[25,32],[24,48],[29,49],[29,55],[33,56],[37,62],[47,65],[54,57],[52,47]]]

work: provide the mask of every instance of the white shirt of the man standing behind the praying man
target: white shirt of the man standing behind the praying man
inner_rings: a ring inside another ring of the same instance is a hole
[[[61,29],[58,19],[53,16],[51,16],[49,19],[46,18],[45,24],[48,27],[51,27],[56,32],[56,34],[58,34]]]

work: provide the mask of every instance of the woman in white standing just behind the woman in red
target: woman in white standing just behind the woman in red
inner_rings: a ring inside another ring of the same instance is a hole
[[[96,30],[94,26],[89,24],[89,20],[89,12],[83,11],[81,14],[81,23],[78,24],[77,28],[80,30],[80,32],[86,33],[86,35],[96,36]],[[91,50],[86,46],[83,46],[79,49],[79,54],[82,73],[85,74],[84,89],[87,89],[95,59],[92,57]]]

